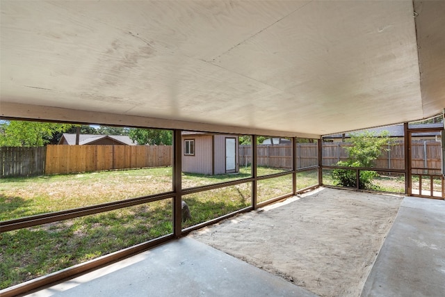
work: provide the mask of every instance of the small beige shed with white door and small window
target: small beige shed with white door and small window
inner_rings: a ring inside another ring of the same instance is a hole
[[[238,172],[238,137],[182,132],[182,171],[205,175]]]

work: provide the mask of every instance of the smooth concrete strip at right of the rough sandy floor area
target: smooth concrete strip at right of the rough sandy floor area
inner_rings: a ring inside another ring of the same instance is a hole
[[[364,296],[445,296],[445,201],[405,197]]]

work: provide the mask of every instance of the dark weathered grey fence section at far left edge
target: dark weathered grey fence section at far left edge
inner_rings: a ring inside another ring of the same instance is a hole
[[[1,177],[44,174],[46,147],[0,147]]]

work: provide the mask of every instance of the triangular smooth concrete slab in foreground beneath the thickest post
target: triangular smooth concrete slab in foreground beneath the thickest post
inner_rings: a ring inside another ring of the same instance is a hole
[[[316,297],[291,282],[188,237],[29,296]]]

